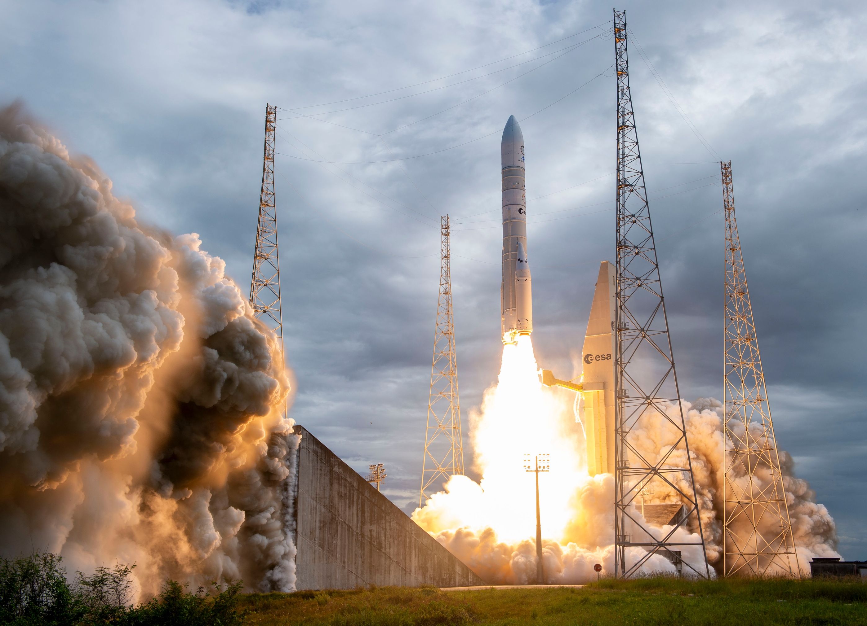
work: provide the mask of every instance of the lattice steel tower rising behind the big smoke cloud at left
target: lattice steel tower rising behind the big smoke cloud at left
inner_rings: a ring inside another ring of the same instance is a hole
[[[283,313],[280,311],[280,260],[277,256],[277,209],[274,205],[274,134],[277,106],[265,105],[265,147],[262,165],[262,193],[259,196],[259,222],[250,304],[253,315],[274,331],[283,351]]]

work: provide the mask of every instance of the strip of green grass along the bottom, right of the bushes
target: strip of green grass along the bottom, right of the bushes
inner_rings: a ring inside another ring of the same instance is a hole
[[[439,591],[383,587],[249,595],[245,624],[867,624],[857,581],[642,578],[583,589]]]

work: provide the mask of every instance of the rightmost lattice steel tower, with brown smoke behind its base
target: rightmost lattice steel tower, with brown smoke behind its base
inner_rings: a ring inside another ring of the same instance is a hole
[[[792,568],[792,522],[734,217],[732,162],[720,167],[726,213],[723,575],[797,571],[800,577],[797,557]]]

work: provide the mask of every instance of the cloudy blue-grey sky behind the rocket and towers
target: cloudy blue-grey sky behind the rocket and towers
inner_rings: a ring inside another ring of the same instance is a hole
[[[865,558],[862,3],[622,3],[681,393],[720,397],[731,159],[779,445]],[[465,417],[499,371],[499,136],[521,120],[540,364],[571,373],[613,261],[611,6],[0,1],[0,99],[249,284],[266,102],[292,415],[417,501],[440,215]],[[638,45],[642,50],[639,50]],[[644,54],[642,55],[641,52]],[[292,113],[290,110],[296,110]],[[862,172],[862,173],[859,173]],[[529,424],[528,424],[529,426]]]

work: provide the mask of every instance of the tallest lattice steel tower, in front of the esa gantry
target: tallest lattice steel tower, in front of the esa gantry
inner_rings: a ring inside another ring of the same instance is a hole
[[[668,335],[659,265],[635,115],[629,94],[626,12],[614,11],[617,76],[617,224],[616,224],[616,426],[615,426],[615,575],[629,578],[655,554],[671,561],[678,571],[686,565],[708,577],[701,517],[695,496],[692,461],[677,385],[675,359]],[[649,452],[630,436],[644,421],[657,423],[666,443]],[[686,454],[684,454],[684,452]],[[636,499],[681,504],[668,522],[668,531],[645,520]],[[655,498],[655,496],[657,496]],[[697,540],[675,539],[688,526]],[[701,557],[694,563],[681,558],[682,549]],[[636,550],[638,548],[639,550]],[[696,562],[697,561],[697,562]]]

